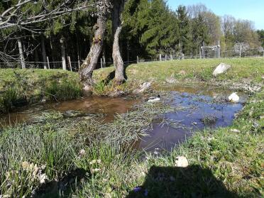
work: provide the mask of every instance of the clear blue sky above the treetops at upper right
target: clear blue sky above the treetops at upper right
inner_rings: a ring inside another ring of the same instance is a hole
[[[235,18],[248,19],[255,23],[256,29],[264,29],[264,0],[167,0],[170,8],[202,3],[218,16],[225,14]]]

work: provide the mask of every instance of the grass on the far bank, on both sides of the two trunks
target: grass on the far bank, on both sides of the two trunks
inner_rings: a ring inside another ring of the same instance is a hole
[[[225,62],[231,65],[229,72],[213,77],[216,65]],[[143,82],[167,84],[167,79],[175,79],[176,84],[221,85],[233,89],[252,90],[260,87],[264,76],[263,58],[173,60],[147,62],[129,65],[126,68],[128,80],[115,87],[109,79],[114,67],[94,71],[95,95],[108,95],[113,91],[132,92]],[[0,72],[0,111],[40,100],[65,100],[82,96],[77,73],[63,70],[20,70],[1,69]],[[15,94],[11,94],[16,92]],[[16,99],[14,96],[16,95]]]

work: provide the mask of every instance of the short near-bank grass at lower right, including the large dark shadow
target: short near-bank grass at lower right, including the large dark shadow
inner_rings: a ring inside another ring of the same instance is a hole
[[[263,92],[256,94],[228,128],[205,130],[170,153],[116,160],[74,194],[77,197],[261,197],[263,196]],[[250,119],[245,119],[253,111]],[[258,123],[258,126],[253,126]],[[234,133],[231,130],[238,129]],[[185,156],[189,167],[175,167]],[[133,192],[141,187],[140,192]]]

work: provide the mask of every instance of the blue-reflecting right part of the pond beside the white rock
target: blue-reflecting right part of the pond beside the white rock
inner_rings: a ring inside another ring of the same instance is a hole
[[[163,87],[163,90],[167,88]],[[154,123],[150,136],[138,143],[139,148],[147,151],[171,150],[188,136],[204,128],[216,128],[231,125],[235,114],[243,108],[246,95],[238,93],[240,101],[226,101],[230,91],[217,89],[199,89],[197,87],[170,87],[170,106],[182,106],[182,111],[164,115],[167,122]],[[173,90],[173,91],[171,91]]]

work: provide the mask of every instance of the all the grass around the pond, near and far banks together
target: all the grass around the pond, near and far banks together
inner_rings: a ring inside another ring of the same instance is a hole
[[[214,78],[211,72],[219,62],[230,64],[231,70]],[[113,89],[111,84],[101,84],[112,70],[109,67],[95,72],[95,93],[104,94]],[[2,71],[1,78],[6,84],[17,81],[13,71]],[[63,79],[70,78],[72,84],[77,84],[76,74],[60,70],[17,73],[21,78],[16,84],[27,76],[27,81],[34,82],[31,90],[47,90],[43,86],[49,84],[48,87],[53,87],[49,93],[55,95],[60,90],[57,96],[61,99],[67,95],[61,90],[68,88],[63,88],[64,85],[56,88],[58,84],[50,85],[50,81],[64,84]],[[246,89],[245,86],[263,87],[264,59],[142,63],[127,67],[126,74],[128,81],[119,89],[127,92],[141,82],[163,84],[171,77],[176,79],[176,84]],[[0,90],[4,93],[6,85],[2,83]],[[78,90],[76,87],[72,89]],[[33,92],[21,93],[34,97]],[[2,128],[0,194],[57,197],[60,188],[72,197],[263,197],[263,98],[263,89],[251,93],[232,126],[195,133],[165,153],[132,149],[138,138],[146,135],[145,129],[153,119],[173,110],[164,104],[144,103],[128,114],[117,115],[111,123],[94,118],[73,121],[54,112],[43,114],[33,123]],[[232,132],[234,129],[236,132]],[[177,156],[185,156],[189,166],[175,167]],[[41,183],[43,177],[45,184]]]

